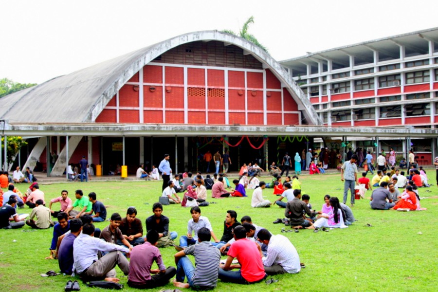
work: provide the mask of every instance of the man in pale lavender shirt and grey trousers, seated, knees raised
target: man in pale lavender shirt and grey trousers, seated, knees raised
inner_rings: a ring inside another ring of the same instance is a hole
[[[73,271],[84,281],[105,280],[118,283],[120,279],[116,278],[114,267],[117,265],[123,274],[128,275],[129,262],[122,253],[128,255],[130,249],[105,242],[93,235],[93,224],[82,226],[82,233],[73,242]],[[99,258],[99,252],[106,254]]]

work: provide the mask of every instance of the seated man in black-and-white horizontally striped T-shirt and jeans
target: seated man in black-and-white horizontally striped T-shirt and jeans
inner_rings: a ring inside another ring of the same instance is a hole
[[[202,227],[198,231],[198,242],[175,254],[177,276],[174,285],[179,288],[193,288],[195,290],[214,289],[218,282],[220,252],[211,242],[211,233],[208,228]],[[195,256],[195,266],[187,255]],[[184,277],[187,276],[187,283]]]

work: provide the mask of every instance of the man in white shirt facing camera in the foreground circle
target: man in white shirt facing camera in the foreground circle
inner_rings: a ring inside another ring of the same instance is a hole
[[[201,216],[200,207],[192,207],[190,209],[190,214],[192,215],[192,219],[190,219],[187,223],[187,235],[180,237],[180,246],[186,247],[192,244],[195,244],[198,240],[198,231],[202,227],[206,227],[210,230],[211,237],[215,242],[219,242],[219,239],[216,237],[213,232],[213,228],[211,227],[211,223],[207,217]]]

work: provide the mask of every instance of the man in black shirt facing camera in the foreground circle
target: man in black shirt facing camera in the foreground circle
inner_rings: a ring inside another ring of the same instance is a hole
[[[154,203],[152,205],[154,215],[146,219],[146,231],[155,230],[158,232],[157,247],[173,246],[173,240],[178,237],[175,231],[169,232],[169,219],[164,216],[163,205]]]

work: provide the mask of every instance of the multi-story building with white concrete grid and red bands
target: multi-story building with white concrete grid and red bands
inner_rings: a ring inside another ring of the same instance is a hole
[[[384,37],[280,62],[332,127],[438,128],[438,28]],[[380,140],[406,149],[404,137]],[[353,147],[375,141],[351,138]],[[431,163],[432,139],[412,141],[420,163]]]

